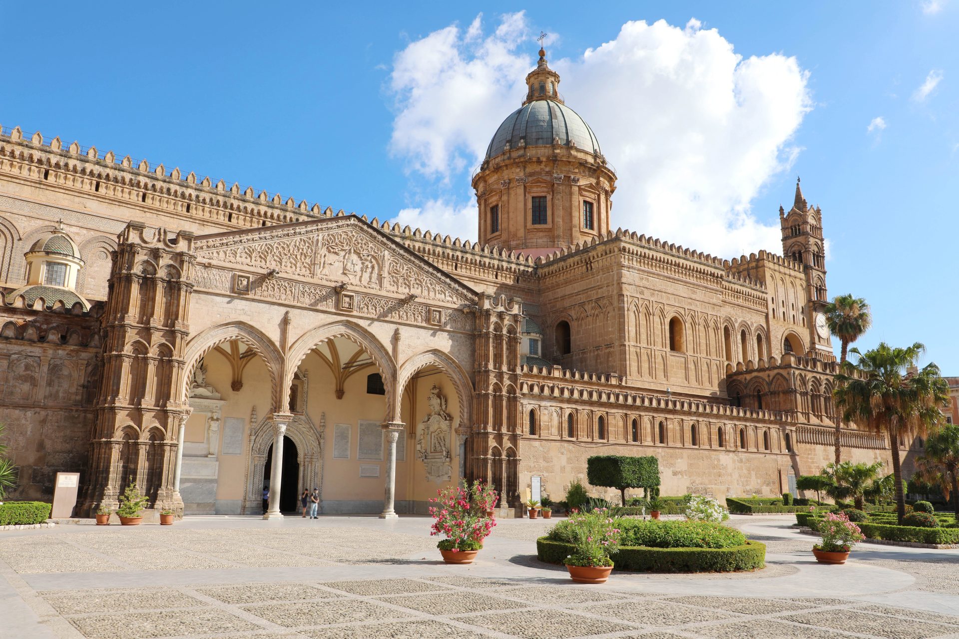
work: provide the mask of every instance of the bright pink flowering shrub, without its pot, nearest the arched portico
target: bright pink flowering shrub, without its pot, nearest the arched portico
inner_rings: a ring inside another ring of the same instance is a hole
[[[496,507],[499,495],[488,484],[477,480],[469,486],[464,480],[460,486],[448,486],[436,491],[430,500],[433,526],[430,535],[445,535],[436,544],[440,550],[455,553],[463,550],[479,550],[482,540],[493,532],[496,520],[486,516]]]

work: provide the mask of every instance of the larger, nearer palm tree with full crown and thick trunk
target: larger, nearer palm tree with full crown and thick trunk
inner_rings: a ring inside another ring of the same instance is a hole
[[[905,516],[900,442],[911,435],[924,435],[941,422],[942,408],[948,405],[948,384],[940,377],[938,366],[929,363],[920,371],[906,373],[924,351],[919,342],[904,349],[880,342],[865,354],[852,349],[858,361],[845,362],[835,376],[834,396],[842,419],[889,437],[900,521]]]

